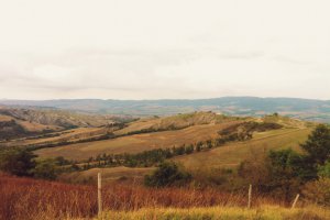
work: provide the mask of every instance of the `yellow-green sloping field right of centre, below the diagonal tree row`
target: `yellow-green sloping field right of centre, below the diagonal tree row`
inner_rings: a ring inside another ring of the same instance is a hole
[[[196,167],[233,167],[251,154],[260,154],[272,148],[293,147],[299,151],[299,143],[307,140],[311,129],[284,129],[256,133],[253,140],[234,142],[207,152],[176,157],[188,169]],[[207,162],[207,163],[206,163]]]

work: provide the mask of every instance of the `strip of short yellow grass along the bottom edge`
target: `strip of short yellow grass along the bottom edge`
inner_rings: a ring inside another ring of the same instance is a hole
[[[330,210],[319,207],[287,209],[276,206],[263,206],[254,209],[211,207],[193,209],[155,208],[138,211],[108,211],[98,219],[117,220],[328,220]]]

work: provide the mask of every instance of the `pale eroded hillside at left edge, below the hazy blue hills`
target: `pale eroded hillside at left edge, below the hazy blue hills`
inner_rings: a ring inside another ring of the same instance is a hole
[[[73,128],[98,128],[113,122],[120,122],[120,119],[56,109],[0,107],[0,141]]]

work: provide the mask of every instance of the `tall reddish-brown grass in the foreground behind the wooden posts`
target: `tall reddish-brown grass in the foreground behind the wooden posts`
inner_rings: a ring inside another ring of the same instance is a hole
[[[245,196],[215,189],[144,188],[110,185],[102,190],[107,210],[136,210],[142,207],[246,206]],[[254,197],[254,206],[275,204]],[[0,219],[91,218],[97,213],[97,188],[56,182],[19,178],[0,174]]]

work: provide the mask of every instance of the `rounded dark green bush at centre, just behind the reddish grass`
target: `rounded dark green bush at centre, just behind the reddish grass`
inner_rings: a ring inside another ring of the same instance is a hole
[[[146,175],[144,184],[151,187],[182,186],[191,179],[191,175],[180,170],[173,162],[164,162],[152,174]]]

